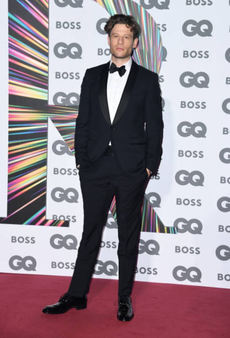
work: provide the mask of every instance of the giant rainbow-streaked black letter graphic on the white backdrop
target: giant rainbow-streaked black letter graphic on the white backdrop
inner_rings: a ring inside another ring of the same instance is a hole
[[[97,2],[105,7],[110,15],[124,13],[136,17],[142,28],[142,35],[133,58],[138,64],[159,73],[162,42],[159,30],[148,12],[131,0]],[[78,109],[49,106],[47,100],[48,0],[11,0],[8,216],[1,218],[1,223],[69,225],[69,222],[47,220],[45,217],[47,120],[51,118],[73,150]],[[116,218],[115,199],[110,210]],[[147,217],[148,215],[151,217]],[[144,200],[142,231],[167,232],[169,228],[162,228],[161,224],[148,201]],[[174,232],[171,230],[171,233]]]

